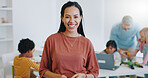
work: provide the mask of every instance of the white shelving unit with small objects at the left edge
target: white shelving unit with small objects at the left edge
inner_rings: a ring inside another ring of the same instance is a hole
[[[0,0],[0,54],[13,51],[13,0]],[[4,18],[4,19],[3,19]],[[6,23],[2,23],[6,21]],[[0,57],[1,57],[0,55]]]

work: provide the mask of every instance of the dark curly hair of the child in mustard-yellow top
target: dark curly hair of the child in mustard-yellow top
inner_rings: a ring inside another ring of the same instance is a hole
[[[26,38],[26,39],[20,40],[20,43],[18,44],[18,51],[23,54],[29,50],[32,50],[34,47],[35,47],[34,42]]]

